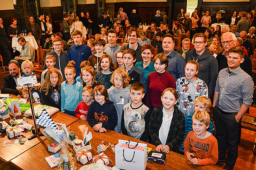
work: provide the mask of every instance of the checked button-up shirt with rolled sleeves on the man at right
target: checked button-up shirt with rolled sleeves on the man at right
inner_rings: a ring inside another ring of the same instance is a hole
[[[224,112],[237,113],[244,103],[252,104],[254,83],[240,67],[229,74],[229,67],[222,69],[217,78],[215,91],[218,92],[217,106]]]

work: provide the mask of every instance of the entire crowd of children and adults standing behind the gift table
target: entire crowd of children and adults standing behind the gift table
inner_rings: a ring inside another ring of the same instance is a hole
[[[88,121],[95,131],[115,130],[153,143],[157,151],[183,153],[194,164],[226,162],[225,168],[232,170],[241,117],[252,104],[254,49],[247,38],[255,38],[250,23],[255,13],[241,12],[238,19],[234,12],[226,20],[220,13],[214,20],[209,11],[202,18],[197,13],[189,18],[182,9],[171,28],[166,13],[157,10],[144,31],[138,28],[141,20],[135,9],[128,17],[120,8],[113,19],[105,10],[97,24],[101,34],[86,41],[82,28],[91,34],[93,22],[88,12],[80,17],[64,14],[62,33],[54,30],[50,16],[46,21],[44,14],[37,21],[31,16],[28,35],[51,50],[45,57],[45,71],[33,72],[34,49],[20,37],[21,54],[7,63],[10,74],[3,78],[1,93],[28,99],[25,90],[16,90],[17,78],[36,75],[41,86],[35,89],[38,95],[33,93],[35,102]],[[231,32],[209,27],[224,21],[231,21]],[[12,19],[7,33],[1,22],[3,40],[11,41],[21,33],[17,20]],[[174,37],[182,33],[191,36],[175,51]],[[118,43],[118,38],[124,38],[124,43]],[[0,47],[10,48],[2,43]],[[10,59],[13,55],[2,54]],[[209,117],[211,103],[216,136]]]

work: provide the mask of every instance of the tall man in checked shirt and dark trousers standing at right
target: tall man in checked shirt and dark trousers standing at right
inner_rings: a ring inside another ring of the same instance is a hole
[[[244,61],[241,48],[228,50],[228,68],[222,69],[217,78],[213,99],[213,116],[218,142],[218,162],[225,163],[226,170],[233,170],[238,157],[241,137],[241,117],[252,104],[253,80],[240,68]]]

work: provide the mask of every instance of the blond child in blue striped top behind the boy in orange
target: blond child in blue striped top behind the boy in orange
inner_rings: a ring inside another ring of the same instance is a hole
[[[207,97],[200,96],[200,97],[198,97],[194,100],[194,111],[195,112],[197,112],[197,111],[206,111],[206,112],[209,113],[210,112],[210,107],[211,107],[211,101]],[[186,135],[190,131],[193,130],[192,129],[193,114],[190,114],[190,115],[186,116],[186,118],[185,118],[185,134],[184,134],[183,141],[181,142],[180,147],[179,147],[179,151],[182,152],[182,153],[184,151],[183,143],[184,143],[184,140],[186,138]],[[208,128],[207,131],[209,131],[209,133],[211,133],[211,134],[213,133],[213,125],[212,125],[211,121],[210,121],[209,128]]]

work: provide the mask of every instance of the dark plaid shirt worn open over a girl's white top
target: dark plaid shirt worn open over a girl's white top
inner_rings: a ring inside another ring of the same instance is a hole
[[[159,129],[163,122],[163,106],[155,107],[151,113],[148,129],[155,146],[161,145]],[[166,140],[166,145],[171,151],[178,152],[178,146],[183,140],[185,131],[185,117],[178,107],[174,106],[171,126]]]

